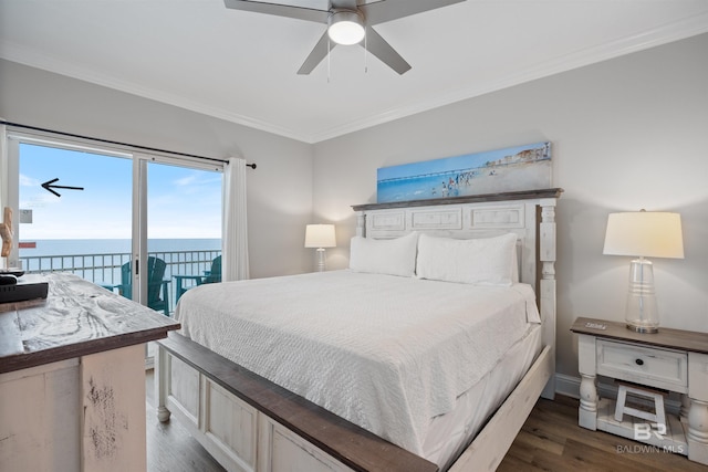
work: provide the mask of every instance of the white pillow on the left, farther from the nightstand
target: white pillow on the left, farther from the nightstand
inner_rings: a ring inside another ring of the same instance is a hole
[[[350,269],[356,272],[412,277],[416,270],[418,233],[396,239],[354,237],[350,248]]]

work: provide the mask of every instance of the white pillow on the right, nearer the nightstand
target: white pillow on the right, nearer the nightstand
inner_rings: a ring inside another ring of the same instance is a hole
[[[511,286],[517,235],[449,239],[420,234],[416,274],[420,279]]]

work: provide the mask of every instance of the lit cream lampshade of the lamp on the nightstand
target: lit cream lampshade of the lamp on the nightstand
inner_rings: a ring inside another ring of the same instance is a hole
[[[681,217],[662,211],[610,213],[603,254],[684,259]]]

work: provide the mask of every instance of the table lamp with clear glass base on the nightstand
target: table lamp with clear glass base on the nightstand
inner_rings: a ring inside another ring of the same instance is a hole
[[[644,258],[684,259],[680,214],[645,210],[610,213],[603,254],[639,258],[629,265],[625,313],[627,329],[658,332],[654,266]]]

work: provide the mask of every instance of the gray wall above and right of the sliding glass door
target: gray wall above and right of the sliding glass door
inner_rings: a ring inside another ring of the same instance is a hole
[[[225,158],[248,171],[251,276],[308,272],[312,146],[13,62],[0,61],[0,117],[14,123]],[[198,224],[198,216],[190,216]]]

